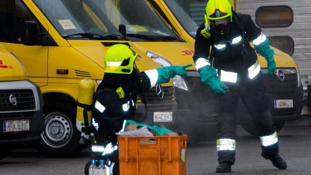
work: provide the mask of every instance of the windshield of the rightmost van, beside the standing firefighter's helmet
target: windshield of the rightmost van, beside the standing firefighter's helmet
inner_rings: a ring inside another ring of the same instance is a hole
[[[183,28],[194,38],[204,21],[208,0],[164,0]]]

